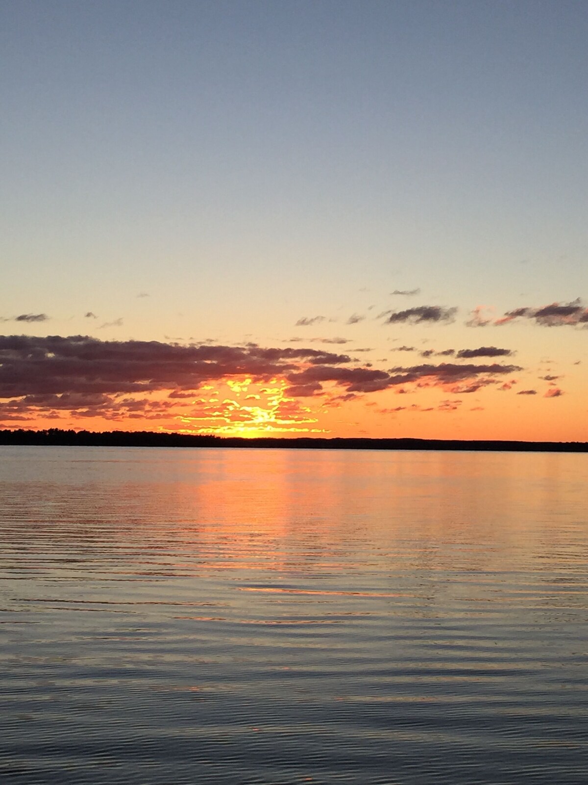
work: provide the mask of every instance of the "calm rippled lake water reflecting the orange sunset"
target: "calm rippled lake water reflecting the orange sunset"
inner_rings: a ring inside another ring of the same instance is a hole
[[[588,455],[0,447],[2,783],[577,783]]]

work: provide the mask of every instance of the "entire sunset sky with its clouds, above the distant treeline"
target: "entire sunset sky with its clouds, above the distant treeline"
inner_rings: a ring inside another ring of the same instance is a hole
[[[0,0],[0,428],[588,440],[586,40]]]

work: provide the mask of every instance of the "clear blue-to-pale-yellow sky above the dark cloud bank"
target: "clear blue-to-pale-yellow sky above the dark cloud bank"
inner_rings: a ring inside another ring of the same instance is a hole
[[[462,346],[478,305],[588,296],[583,2],[18,0],[0,23],[0,316],[50,317],[19,329],[276,345],[321,315],[383,356],[394,290],[457,307]],[[561,344],[525,329],[533,359]]]

